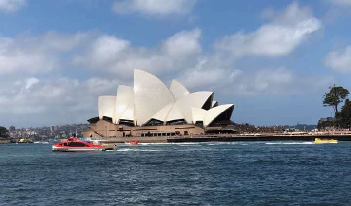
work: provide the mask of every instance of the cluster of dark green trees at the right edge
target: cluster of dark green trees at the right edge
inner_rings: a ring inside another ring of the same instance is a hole
[[[324,94],[323,106],[332,107],[335,114],[335,127],[350,128],[351,126],[351,101],[347,98],[349,91],[343,87],[329,87],[329,93]],[[345,100],[341,111],[338,105]]]

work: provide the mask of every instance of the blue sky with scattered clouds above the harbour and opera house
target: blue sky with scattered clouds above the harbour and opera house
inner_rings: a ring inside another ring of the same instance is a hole
[[[350,34],[351,0],[0,0],[0,125],[87,123],[135,68],[236,123],[317,124],[351,91]]]

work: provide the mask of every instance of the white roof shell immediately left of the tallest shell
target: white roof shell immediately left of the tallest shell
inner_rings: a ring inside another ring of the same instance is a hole
[[[120,119],[134,120],[134,90],[133,87],[119,85],[116,94],[115,121],[118,124]]]

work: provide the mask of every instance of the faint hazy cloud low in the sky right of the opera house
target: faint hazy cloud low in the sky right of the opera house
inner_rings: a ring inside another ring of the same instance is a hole
[[[262,69],[242,73],[233,79],[221,95],[304,95],[323,92],[333,82],[331,76],[300,76],[286,68]],[[225,93],[225,94],[223,94]]]

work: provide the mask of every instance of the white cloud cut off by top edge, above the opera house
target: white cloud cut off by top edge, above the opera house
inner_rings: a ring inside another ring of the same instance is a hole
[[[165,16],[188,13],[197,0],[121,0],[112,9],[117,14],[138,12],[145,15]]]

